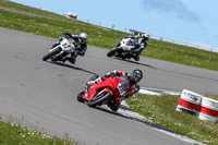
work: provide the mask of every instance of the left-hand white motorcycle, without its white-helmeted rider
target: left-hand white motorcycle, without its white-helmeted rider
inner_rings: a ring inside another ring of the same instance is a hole
[[[74,41],[69,36],[61,36],[59,44],[52,47],[48,53],[43,58],[44,61],[51,59],[51,61],[61,61],[64,57],[75,50]]]

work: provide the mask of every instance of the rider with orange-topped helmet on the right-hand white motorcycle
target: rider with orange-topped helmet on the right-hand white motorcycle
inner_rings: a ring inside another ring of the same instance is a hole
[[[147,40],[149,39],[148,34],[141,34],[140,36],[125,36],[123,38],[131,38],[131,39],[137,39],[135,40],[135,48],[133,48],[133,51],[136,52],[136,57],[134,57],[135,61],[140,61],[141,52],[147,47]],[[120,43],[117,44],[117,47],[120,47]]]

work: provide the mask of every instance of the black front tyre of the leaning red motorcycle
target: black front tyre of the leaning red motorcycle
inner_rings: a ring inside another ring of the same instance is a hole
[[[87,105],[89,107],[96,107],[110,99],[112,95],[109,92],[107,92],[105,94],[100,94],[99,96],[95,96],[90,101],[87,102]]]

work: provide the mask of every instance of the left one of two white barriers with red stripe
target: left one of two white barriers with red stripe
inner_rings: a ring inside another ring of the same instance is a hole
[[[183,89],[177,106],[177,111],[184,111],[196,116],[202,96],[191,90]]]

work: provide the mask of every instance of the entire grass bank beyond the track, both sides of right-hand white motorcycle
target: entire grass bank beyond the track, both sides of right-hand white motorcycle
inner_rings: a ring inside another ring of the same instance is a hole
[[[0,0],[0,5],[46,16],[34,17],[0,10],[0,26],[2,27],[53,38],[59,38],[63,32],[71,32],[73,34],[86,32],[89,37],[88,45],[107,49],[113,48],[120,38],[130,35],[113,29],[105,29],[81,21],[70,20],[62,15],[7,0]],[[48,17],[52,17],[53,20]],[[218,71],[218,53],[166,41],[150,39],[148,47],[142,52],[142,56]]]

